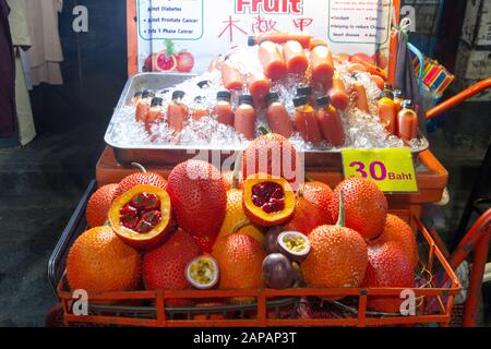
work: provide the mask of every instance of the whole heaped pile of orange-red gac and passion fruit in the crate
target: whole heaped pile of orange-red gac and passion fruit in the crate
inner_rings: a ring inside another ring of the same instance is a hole
[[[416,238],[405,221],[387,214],[375,184],[348,178],[334,191],[315,181],[294,185],[283,172],[272,174],[275,153],[297,164],[288,140],[267,134],[250,144],[232,172],[189,160],[167,180],[142,169],[100,188],[86,209],[93,228],[77,238],[67,260],[69,286],[87,291],[414,287]],[[260,164],[267,165],[261,172]],[[369,301],[385,312],[397,312],[399,304],[385,296]]]

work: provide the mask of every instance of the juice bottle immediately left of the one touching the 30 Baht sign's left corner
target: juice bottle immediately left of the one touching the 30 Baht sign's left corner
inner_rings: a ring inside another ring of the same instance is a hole
[[[322,141],[315,111],[308,104],[307,97],[301,96],[294,99],[295,115],[294,124],[302,139],[307,142],[319,143]]]

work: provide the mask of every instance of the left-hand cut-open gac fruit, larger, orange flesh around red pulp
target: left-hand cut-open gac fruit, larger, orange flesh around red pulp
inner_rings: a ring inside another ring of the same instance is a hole
[[[153,185],[135,185],[109,209],[109,224],[128,245],[151,250],[164,242],[173,228],[170,197]]]

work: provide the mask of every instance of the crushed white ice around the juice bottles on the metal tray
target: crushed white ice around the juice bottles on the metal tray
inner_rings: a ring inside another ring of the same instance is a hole
[[[239,55],[236,55],[239,53]],[[261,69],[258,64],[256,48],[236,48],[229,52],[229,57],[233,63],[239,67],[242,73],[255,72]],[[250,64],[249,62],[254,62]],[[249,65],[248,65],[249,64]],[[335,63],[336,71],[342,75],[347,91],[356,80],[362,82],[367,89],[370,113],[363,112],[356,108],[351,101],[349,108],[345,112],[340,112],[344,128],[346,132],[346,144],[344,147],[356,148],[394,148],[404,147],[404,142],[396,136],[388,135],[383,124],[380,122],[376,109],[376,98],[381,91],[371,81],[368,73],[358,73],[355,79],[348,71],[346,64]],[[309,74],[309,72],[308,72]],[[206,84],[199,86],[200,82],[206,81]],[[288,75],[282,81],[272,84],[272,92],[279,94],[279,101],[283,103],[290,115],[294,113],[295,107],[292,99],[296,95],[296,88],[299,83],[303,83],[302,79],[295,75]],[[203,86],[204,85],[204,86]],[[171,100],[173,91],[184,91],[185,95],[182,103],[190,110],[193,108],[205,108],[213,110],[216,103],[216,93],[223,91],[221,74],[218,70],[205,72],[200,76],[189,79],[181,84],[156,92],[156,97],[163,98],[163,105],[166,106]],[[238,105],[239,96],[246,92],[232,92],[232,107]],[[319,96],[314,96],[319,97]],[[352,100],[352,98],[351,98]],[[166,108],[164,108],[165,113]],[[242,135],[238,134],[233,128],[224,125],[211,116],[203,117],[199,120],[190,118],[182,132],[177,133],[171,130],[167,122],[160,122],[152,127],[151,135],[145,131],[143,123],[136,122],[134,118],[135,107],[125,105],[116,111],[112,120],[113,128],[111,132],[111,141],[121,147],[143,147],[143,146],[211,146],[219,148],[243,148],[248,144]],[[164,121],[167,116],[164,115]],[[261,110],[258,115],[256,135],[261,135],[261,129],[268,130],[265,119],[265,111]],[[303,141],[299,133],[295,133],[290,141],[299,151],[331,151],[335,149],[331,144],[323,142],[321,144],[312,144]],[[411,148],[421,147],[422,140],[411,140],[409,146]]]

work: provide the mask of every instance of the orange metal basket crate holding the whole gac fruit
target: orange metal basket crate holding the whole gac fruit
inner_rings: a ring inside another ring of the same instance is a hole
[[[460,285],[431,233],[419,218],[407,210],[396,210],[403,219],[418,229],[420,255],[420,284],[412,288],[417,297],[416,315],[383,314],[367,309],[371,297],[399,297],[402,288],[339,288],[287,290],[188,290],[188,291],[132,291],[88,294],[88,315],[72,313],[72,291],[64,277],[64,260],[70,245],[84,230],[83,213],[86,200],[95,189],[93,182],[77,206],[69,227],[58,243],[49,265],[51,284],[63,308],[65,325],[116,325],[156,327],[209,327],[209,326],[382,326],[438,323],[448,325],[454,297]],[[426,277],[424,277],[426,276]],[[436,278],[439,276],[439,279]],[[440,282],[439,280],[442,280]],[[195,299],[211,302],[235,297],[252,297],[255,302],[244,305],[214,305],[208,308],[169,308],[168,299]],[[321,297],[343,298],[339,301],[322,301]],[[195,315],[200,315],[196,318]],[[319,317],[319,318],[316,318]]]

